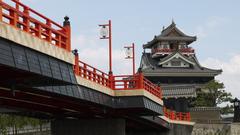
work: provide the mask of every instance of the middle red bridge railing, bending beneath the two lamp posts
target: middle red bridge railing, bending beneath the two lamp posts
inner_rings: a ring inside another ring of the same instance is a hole
[[[79,61],[77,50],[73,53],[75,55],[74,72],[76,75],[108,87],[112,90],[145,89],[156,97],[160,99],[162,98],[161,88],[144,78],[143,73],[140,72],[135,75],[113,76]]]

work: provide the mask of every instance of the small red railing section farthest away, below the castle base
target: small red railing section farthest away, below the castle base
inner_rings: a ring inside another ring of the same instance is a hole
[[[173,110],[164,108],[164,116],[171,120],[179,120],[179,121],[191,121],[190,112],[175,112]]]

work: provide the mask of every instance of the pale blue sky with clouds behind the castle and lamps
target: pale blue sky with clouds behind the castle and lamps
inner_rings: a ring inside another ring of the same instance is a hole
[[[240,1],[239,0],[21,0],[32,9],[62,23],[70,17],[72,49],[80,59],[108,71],[108,42],[99,39],[98,24],[112,20],[113,72],[130,74],[131,61],[123,46],[136,44],[136,67],[142,45],[161,33],[172,20],[187,35],[203,66],[222,69],[217,80],[240,98]]]

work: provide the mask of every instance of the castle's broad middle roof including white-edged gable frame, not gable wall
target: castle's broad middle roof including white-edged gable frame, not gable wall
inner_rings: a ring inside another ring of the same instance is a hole
[[[191,67],[161,67],[159,64],[172,59],[180,55],[185,59],[186,62],[190,63]],[[194,77],[194,76],[207,76],[214,77],[222,73],[222,70],[209,69],[206,67],[202,67],[196,56],[192,55],[189,57],[183,56],[179,52],[175,52],[165,58],[153,59],[150,53],[143,53],[141,58],[141,68],[144,73],[144,76],[173,76],[173,77]]]

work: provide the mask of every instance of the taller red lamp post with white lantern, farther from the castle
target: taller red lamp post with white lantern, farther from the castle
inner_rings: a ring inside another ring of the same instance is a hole
[[[108,21],[108,24],[99,25],[100,29],[100,39],[108,39],[109,41],[109,74],[112,74],[112,22]]]

